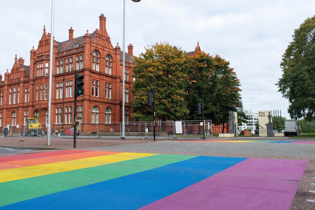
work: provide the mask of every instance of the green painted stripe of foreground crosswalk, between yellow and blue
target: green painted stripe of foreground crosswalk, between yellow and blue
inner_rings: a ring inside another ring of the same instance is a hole
[[[0,183],[0,206],[150,170],[196,156],[159,154]]]

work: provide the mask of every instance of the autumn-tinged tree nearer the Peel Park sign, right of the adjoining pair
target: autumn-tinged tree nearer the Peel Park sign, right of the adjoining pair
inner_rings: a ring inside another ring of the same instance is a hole
[[[210,56],[203,51],[196,50],[190,57],[189,95],[186,96],[190,114],[186,118],[201,119],[195,105],[203,99],[204,116],[215,124],[227,126],[229,111],[239,112],[239,121],[246,119],[240,95],[241,84],[229,65],[229,61],[219,55]]]

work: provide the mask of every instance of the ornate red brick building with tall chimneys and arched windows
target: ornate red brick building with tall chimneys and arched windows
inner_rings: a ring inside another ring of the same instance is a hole
[[[71,127],[74,117],[74,71],[84,75],[84,95],[77,98],[77,116],[84,124],[122,121],[122,66],[123,52],[113,47],[106,31],[106,17],[101,14],[100,28],[93,33],[69,39],[54,40],[53,69],[49,69],[50,33],[43,35],[30,51],[30,65],[15,55],[11,71],[0,75],[0,126],[23,126],[28,117],[39,112],[39,121],[45,130],[48,121],[49,71],[52,71],[52,127],[65,124]],[[133,46],[125,54],[125,121],[131,121],[131,88],[134,66]],[[60,128],[59,128],[60,129]]]

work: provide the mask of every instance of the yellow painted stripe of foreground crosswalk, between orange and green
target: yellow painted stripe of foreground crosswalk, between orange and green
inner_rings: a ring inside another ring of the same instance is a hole
[[[113,155],[83,158],[79,160],[5,169],[0,171],[0,183],[13,181],[17,179],[26,179],[30,177],[42,176],[52,173],[77,170],[81,168],[100,166],[114,162],[132,160],[152,155],[157,154],[123,152]]]

